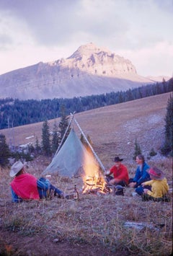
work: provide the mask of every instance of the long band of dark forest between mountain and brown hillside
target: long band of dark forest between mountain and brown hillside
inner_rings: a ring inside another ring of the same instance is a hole
[[[12,128],[19,125],[43,122],[61,116],[61,106],[66,108],[66,115],[70,112],[83,112],[97,107],[114,105],[143,97],[154,96],[173,91],[173,78],[163,79],[156,84],[128,89],[125,92],[110,92],[87,97],[53,100],[14,100],[0,99],[0,129]]]

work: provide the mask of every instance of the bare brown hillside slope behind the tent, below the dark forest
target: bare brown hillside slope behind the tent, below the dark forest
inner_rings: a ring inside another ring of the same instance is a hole
[[[159,151],[164,141],[164,117],[167,111],[169,93],[146,97],[117,105],[100,107],[95,110],[77,113],[75,118],[86,135],[92,138],[94,149],[107,165],[115,154],[130,160],[133,157],[134,143],[137,138],[143,154],[148,156],[154,148]],[[57,118],[57,123],[60,118]],[[50,131],[55,120],[49,120]],[[1,130],[9,141],[16,146],[31,142],[36,137],[41,141],[43,123],[24,125]],[[79,128],[73,123],[80,136]]]

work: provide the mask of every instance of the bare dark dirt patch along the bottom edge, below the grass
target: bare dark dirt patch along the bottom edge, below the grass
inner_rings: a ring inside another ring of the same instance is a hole
[[[39,234],[34,237],[23,237],[22,235],[9,235],[9,232],[1,231],[1,235],[6,237],[6,251],[9,251],[9,255],[115,255],[115,252],[110,252],[109,249],[102,247],[102,244],[93,245],[81,243],[80,241],[61,241],[61,239],[49,236],[48,233]],[[6,253],[6,255],[8,254]],[[122,254],[117,252],[116,255]]]

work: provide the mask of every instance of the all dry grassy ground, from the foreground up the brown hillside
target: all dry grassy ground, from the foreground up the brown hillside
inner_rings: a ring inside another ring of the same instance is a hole
[[[161,94],[82,112],[75,118],[92,138],[94,150],[106,169],[118,154],[133,177],[136,163],[132,158],[137,138],[148,164],[156,164],[163,170],[172,189],[172,159],[159,154],[168,98],[169,94]],[[54,120],[49,121],[50,130],[53,123]],[[37,123],[1,133],[7,142],[13,134],[16,145],[32,140],[35,144],[36,136],[41,138],[41,129],[42,123]],[[150,158],[151,148],[157,154]],[[40,177],[49,163],[50,159],[40,156],[28,163],[28,172]],[[169,203],[143,202],[140,196],[132,196],[130,187],[125,188],[125,196],[84,194],[80,177],[56,175],[51,177],[53,185],[68,194],[76,184],[79,200],[53,198],[15,204],[11,202],[9,169],[2,169],[0,175],[0,255],[167,256],[172,253],[171,192]]]

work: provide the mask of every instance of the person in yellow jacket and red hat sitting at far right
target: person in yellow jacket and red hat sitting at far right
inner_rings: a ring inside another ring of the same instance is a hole
[[[169,190],[169,185],[167,183],[167,178],[164,177],[164,173],[157,167],[152,167],[148,170],[148,174],[151,180],[143,182],[142,186],[151,186],[150,189],[143,189],[143,200],[165,200],[168,201],[167,193]]]

